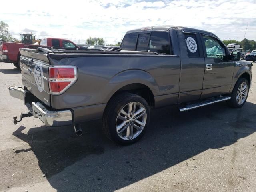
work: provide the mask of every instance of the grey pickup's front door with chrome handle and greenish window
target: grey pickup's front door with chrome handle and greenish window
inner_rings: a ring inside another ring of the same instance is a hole
[[[202,42],[205,69],[201,99],[226,94],[232,85],[234,61],[228,60],[224,44],[214,36],[203,34]]]

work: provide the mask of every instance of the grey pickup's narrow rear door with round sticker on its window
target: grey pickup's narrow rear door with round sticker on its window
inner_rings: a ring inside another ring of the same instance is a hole
[[[204,54],[200,35],[192,30],[179,30],[181,57],[179,103],[199,100],[204,79]]]

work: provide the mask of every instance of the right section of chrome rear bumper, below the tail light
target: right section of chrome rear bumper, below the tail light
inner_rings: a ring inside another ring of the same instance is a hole
[[[40,102],[32,102],[32,112],[35,118],[39,118],[46,126],[66,126],[72,124],[70,110],[50,111]]]

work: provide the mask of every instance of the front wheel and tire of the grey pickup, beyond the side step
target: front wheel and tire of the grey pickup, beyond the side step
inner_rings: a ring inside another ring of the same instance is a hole
[[[228,105],[233,108],[242,107],[248,97],[249,82],[245,78],[239,78],[231,93],[231,99],[227,101]]]

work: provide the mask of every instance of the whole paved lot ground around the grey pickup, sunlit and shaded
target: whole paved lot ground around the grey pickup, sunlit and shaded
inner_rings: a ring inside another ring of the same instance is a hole
[[[0,63],[0,191],[254,192],[255,79],[242,108],[153,110],[145,136],[124,147],[105,138],[100,121],[84,124],[81,137],[33,117],[14,125],[12,117],[27,110],[8,87],[21,86],[21,74]]]

